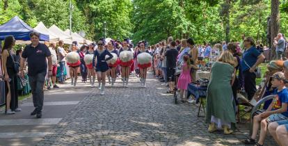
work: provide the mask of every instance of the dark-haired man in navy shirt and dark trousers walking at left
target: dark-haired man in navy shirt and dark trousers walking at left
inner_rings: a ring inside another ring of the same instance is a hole
[[[45,44],[39,42],[39,33],[30,33],[31,44],[27,45],[22,53],[20,63],[20,74],[24,76],[24,62],[27,58],[28,62],[28,76],[29,83],[32,90],[33,104],[35,110],[31,115],[36,115],[37,118],[42,117],[42,107],[44,99],[43,86],[45,83],[45,76],[47,74],[48,59],[48,76],[52,75],[52,59],[51,53]]]

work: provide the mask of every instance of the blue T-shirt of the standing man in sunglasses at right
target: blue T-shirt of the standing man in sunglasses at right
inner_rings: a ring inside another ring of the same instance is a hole
[[[250,67],[252,67],[256,62],[257,62],[257,59],[258,59],[258,56],[261,55],[261,52],[259,50],[256,49],[256,47],[250,47],[250,49],[246,50],[243,52],[243,58],[241,60],[241,70],[242,72],[245,72],[247,70],[250,70]],[[246,63],[250,66],[248,67],[245,63]]]

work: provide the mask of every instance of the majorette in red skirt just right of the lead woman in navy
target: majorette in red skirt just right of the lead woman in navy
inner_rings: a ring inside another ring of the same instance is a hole
[[[116,54],[117,56],[119,56],[119,51],[117,49],[114,48],[114,42],[113,40],[111,40],[110,42],[108,42],[108,51],[112,54]],[[108,76],[108,81],[109,84],[112,83],[112,86],[114,86],[115,80],[116,80],[116,67],[118,65],[117,61],[112,65],[112,64],[108,64],[109,65],[109,70],[107,72],[107,76]],[[111,81],[112,79],[112,81]]]

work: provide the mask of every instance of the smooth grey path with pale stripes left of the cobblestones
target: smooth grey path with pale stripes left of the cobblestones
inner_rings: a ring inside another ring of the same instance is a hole
[[[79,83],[72,89],[70,83],[57,90],[45,90],[42,118],[36,119],[30,113],[34,110],[32,99],[19,104],[22,111],[15,115],[0,113],[0,145],[36,145],[51,134],[56,124],[91,92],[88,85]]]

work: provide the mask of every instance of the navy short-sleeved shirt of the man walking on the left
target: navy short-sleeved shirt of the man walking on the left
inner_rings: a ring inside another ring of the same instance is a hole
[[[27,58],[28,75],[47,72],[46,58],[51,56],[51,52],[45,44],[39,43],[38,46],[32,47],[31,44],[26,45],[22,53],[22,58]]]

